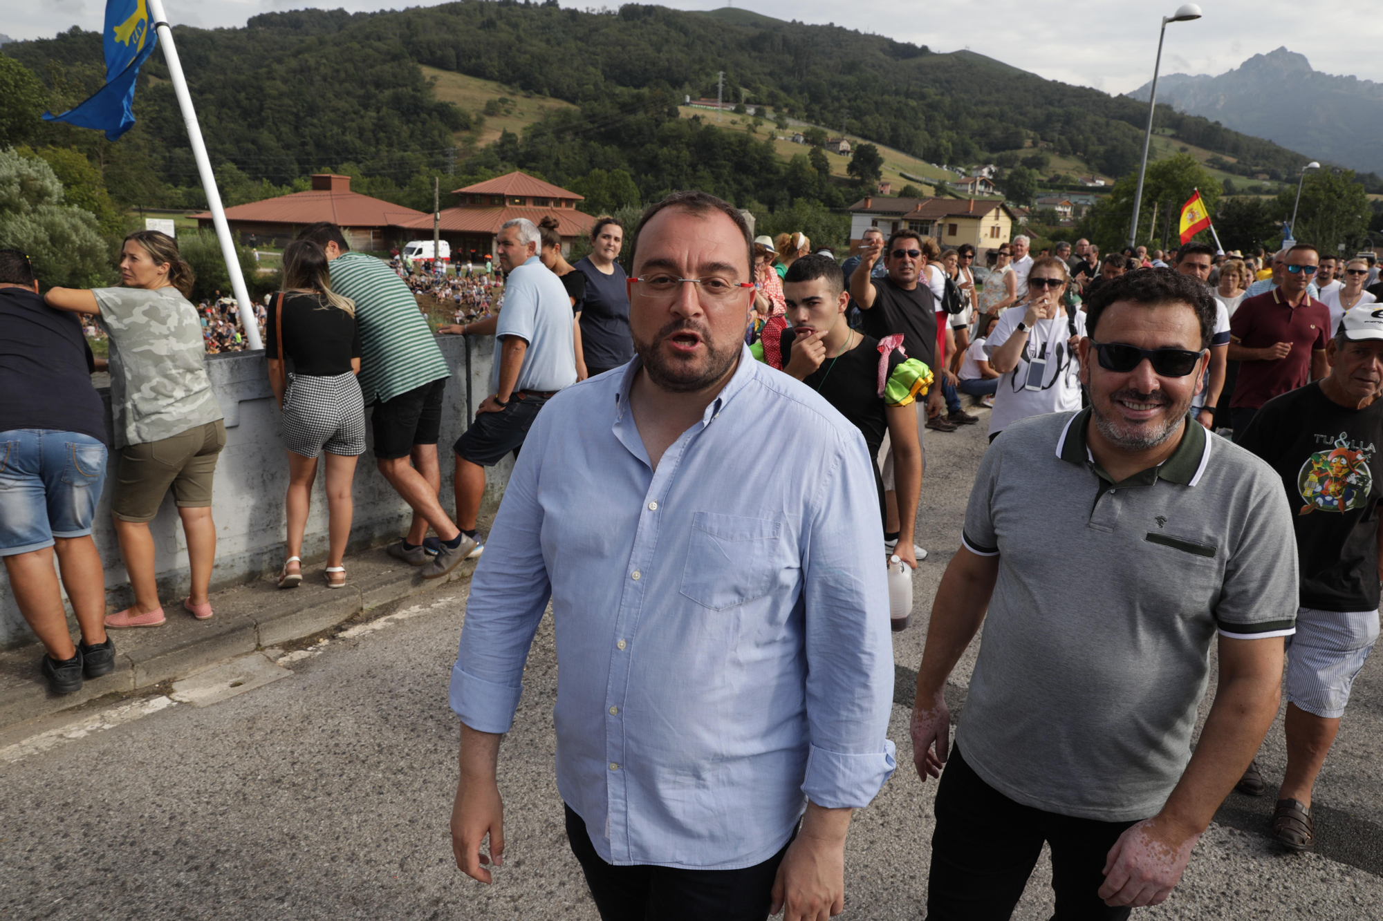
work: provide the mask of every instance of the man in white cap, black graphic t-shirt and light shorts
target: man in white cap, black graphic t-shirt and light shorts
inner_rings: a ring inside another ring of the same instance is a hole
[[[1238,438],[1282,476],[1296,512],[1301,607],[1286,639],[1288,766],[1272,816],[1272,837],[1294,850],[1315,844],[1311,787],[1379,635],[1383,310],[1348,311],[1326,358],[1328,376],[1265,402]],[[1250,765],[1239,790],[1264,788]]]

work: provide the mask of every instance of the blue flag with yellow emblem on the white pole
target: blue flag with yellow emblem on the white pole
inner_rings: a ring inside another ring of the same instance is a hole
[[[105,47],[105,86],[76,108],[62,115],[44,112],[43,119],[105,131],[106,140],[116,141],[134,127],[134,79],[159,40],[145,1],[106,0],[101,40]]]

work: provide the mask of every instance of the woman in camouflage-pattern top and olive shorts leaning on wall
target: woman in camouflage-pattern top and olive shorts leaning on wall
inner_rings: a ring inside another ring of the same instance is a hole
[[[206,376],[202,321],[188,300],[192,267],[171,236],[136,231],[120,248],[120,279],[123,288],[53,288],[44,296],[50,307],[100,315],[111,337],[111,411],[119,451],[111,512],[134,603],[106,615],[105,625],[159,626],[166,620],[149,521],[169,490],[183,520],[191,568],[183,607],[206,620],[216,564],[212,481],[225,426]]]

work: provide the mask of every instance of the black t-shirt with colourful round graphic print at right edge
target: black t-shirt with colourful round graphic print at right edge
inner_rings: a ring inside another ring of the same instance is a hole
[[[1379,483],[1373,465],[1383,447],[1383,401],[1348,409],[1312,382],[1263,404],[1239,444],[1267,461],[1288,491],[1301,606],[1375,610]]]

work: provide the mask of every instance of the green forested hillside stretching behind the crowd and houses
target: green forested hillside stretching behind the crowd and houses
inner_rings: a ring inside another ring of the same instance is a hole
[[[404,188],[422,171],[463,176],[517,165],[556,183],[624,169],[643,196],[698,184],[770,207],[788,203],[794,196],[781,188],[783,167],[762,142],[676,118],[683,94],[714,95],[719,69],[729,100],[830,126],[844,119],[851,133],[938,163],[965,165],[1040,140],[1117,176],[1137,165],[1145,118],[1133,100],[1043,80],[981,55],[934,54],[743,10],[629,4],[600,14],[470,0],[378,14],[266,14],[243,29],[178,28],[177,40],[213,159],[234,165],[236,180],[266,180],[266,188],[349,167],[375,177],[376,191],[390,196],[391,187]],[[3,54],[33,71],[54,105],[100,86],[97,33],[12,43]],[[553,113],[521,138],[505,136],[474,149],[465,144],[466,131],[483,115],[437,101],[419,64],[579,108]],[[102,166],[109,159],[112,194],[122,201],[155,203],[177,198],[177,187],[191,187],[195,196],[160,55],[145,65],[141,83],[140,124],[119,145],[61,126],[18,140],[79,144]],[[1159,112],[1159,126],[1274,176],[1290,174],[1306,159],[1170,109]],[[817,180],[816,196],[837,203],[831,199],[841,194]]]

